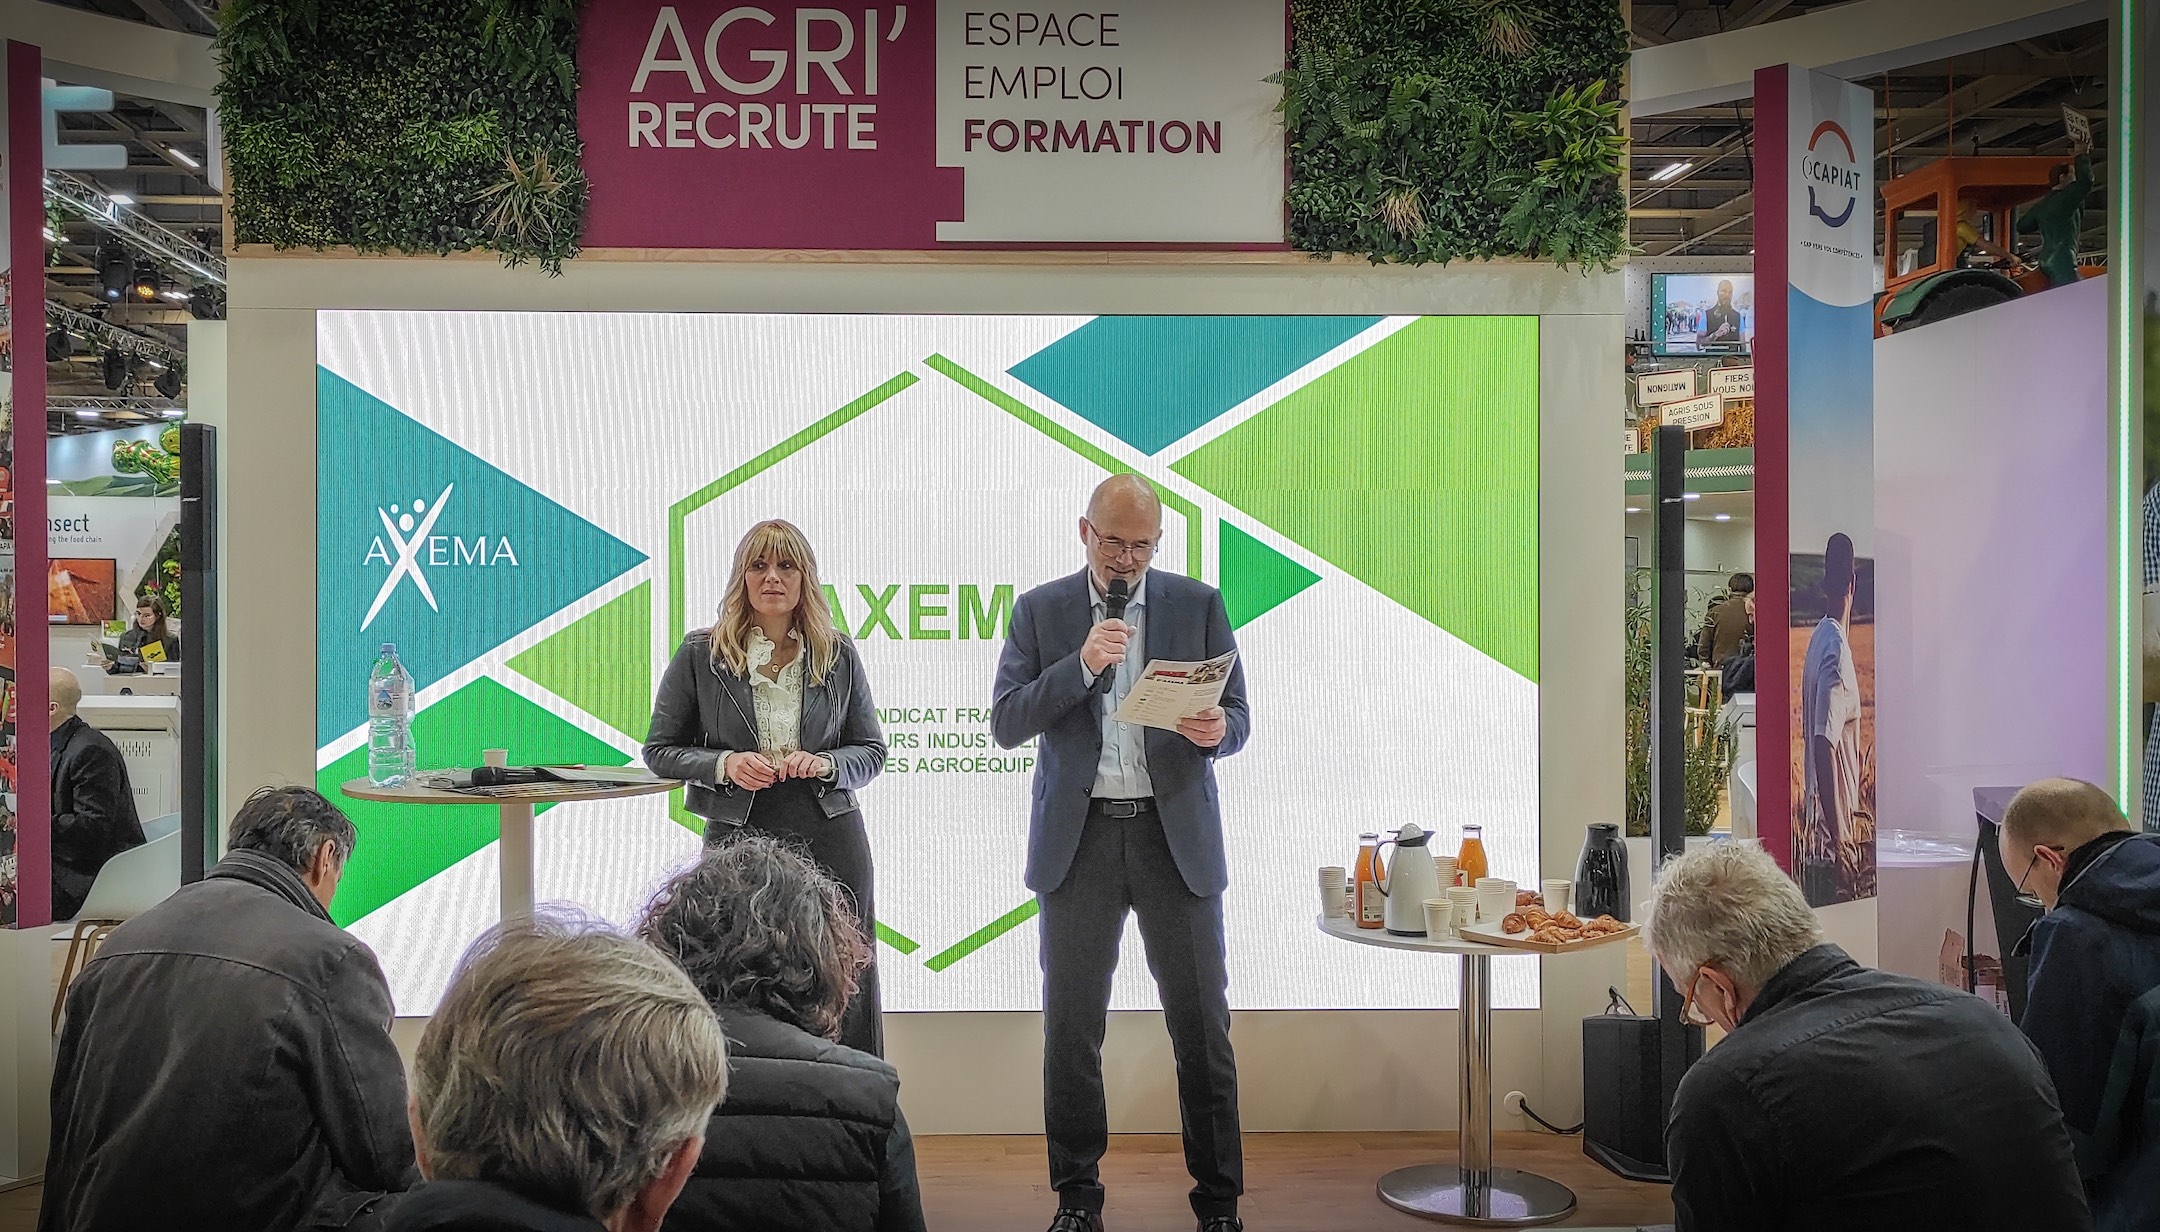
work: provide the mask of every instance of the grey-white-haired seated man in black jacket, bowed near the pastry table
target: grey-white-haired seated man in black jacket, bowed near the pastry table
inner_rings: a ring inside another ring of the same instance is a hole
[[[1754,843],[1674,860],[1644,940],[1689,1020],[1728,1031],[1665,1126],[1680,1232],[2091,1228],[2048,1070],[2011,1020],[1827,945]]]

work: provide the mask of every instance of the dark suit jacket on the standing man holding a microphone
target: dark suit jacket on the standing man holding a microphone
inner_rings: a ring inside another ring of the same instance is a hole
[[[998,687],[989,702],[989,733],[1004,748],[1041,737],[1035,750],[1035,804],[1028,815],[1028,888],[1043,895],[1065,884],[1080,832],[1086,828],[1089,791],[1102,761],[1104,698],[1086,685],[1080,644],[1093,620],[1086,571],[1037,586],[1013,607],[1013,631],[998,657]],[[1207,659],[1236,648],[1223,594],[1175,573],[1147,575],[1147,657]],[[1147,728],[1147,776],[1156,785],[1162,832],[1177,858],[1177,873],[1194,895],[1229,886],[1223,856],[1223,811],[1216,802],[1214,761],[1244,748],[1251,713],[1244,702],[1244,664],[1223,689],[1227,731],[1216,748],[1199,748],[1175,731]]]

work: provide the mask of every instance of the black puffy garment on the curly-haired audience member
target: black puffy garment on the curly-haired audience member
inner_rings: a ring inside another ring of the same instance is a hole
[[[728,1100],[661,1232],[922,1232],[899,1072],[765,1014],[719,1025]]]

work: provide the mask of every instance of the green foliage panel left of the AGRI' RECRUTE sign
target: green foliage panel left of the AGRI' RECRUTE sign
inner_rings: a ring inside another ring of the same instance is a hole
[[[218,58],[238,242],[577,255],[577,0],[229,0]]]

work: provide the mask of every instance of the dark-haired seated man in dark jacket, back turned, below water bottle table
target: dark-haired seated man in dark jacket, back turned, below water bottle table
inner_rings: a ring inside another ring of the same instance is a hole
[[[391,990],[328,912],[354,839],[257,791],[207,878],[112,932],[67,992],[41,1232],[359,1230],[417,1180]]]

